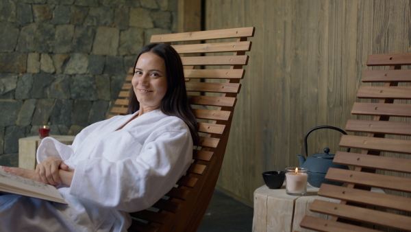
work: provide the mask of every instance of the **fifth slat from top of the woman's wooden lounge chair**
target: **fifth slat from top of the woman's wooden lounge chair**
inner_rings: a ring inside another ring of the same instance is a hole
[[[199,92],[238,93],[240,86],[238,83],[186,82],[187,91]]]

